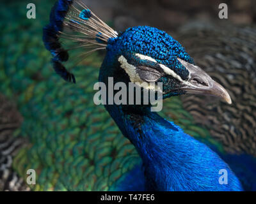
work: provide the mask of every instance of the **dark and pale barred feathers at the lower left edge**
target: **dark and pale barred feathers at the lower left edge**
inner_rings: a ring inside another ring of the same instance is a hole
[[[12,169],[13,157],[26,143],[13,137],[20,127],[22,117],[15,105],[0,95],[0,191],[26,191],[24,180]]]

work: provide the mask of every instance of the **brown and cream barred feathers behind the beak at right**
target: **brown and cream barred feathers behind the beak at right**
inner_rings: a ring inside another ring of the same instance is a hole
[[[182,96],[184,108],[232,154],[256,157],[256,33],[250,27],[186,29],[180,40],[233,104],[212,97]],[[227,31],[225,31],[227,30]]]

